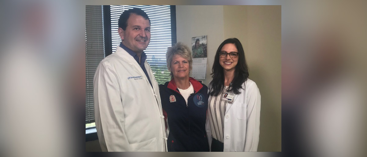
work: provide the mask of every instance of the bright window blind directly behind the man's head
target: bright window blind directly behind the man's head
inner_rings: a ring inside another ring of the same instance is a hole
[[[112,51],[116,51],[121,39],[117,33],[121,13],[132,8],[140,8],[150,19],[150,43],[144,51],[147,62],[153,70],[158,84],[171,80],[167,69],[166,51],[172,45],[170,6],[110,6]]]

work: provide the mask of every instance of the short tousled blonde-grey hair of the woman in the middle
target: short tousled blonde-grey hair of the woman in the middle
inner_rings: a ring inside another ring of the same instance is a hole
[[[191,72],[192,54],[191,54],[190,48],[181,42],[178,42],[175,45],[168,47],[167,52],[166,52],[166,61],[167,61],[168,69],[171,68],[171,62],[172,62],[173,56],[175,55],[180,55],[182,58],[185,58],[189,61],[190,72]],[[172,72],[170,73],[170,75],[171,75],[171,78],[173,78]]]

